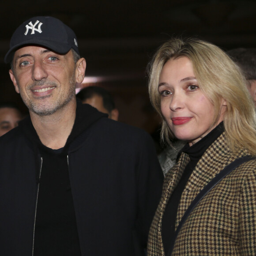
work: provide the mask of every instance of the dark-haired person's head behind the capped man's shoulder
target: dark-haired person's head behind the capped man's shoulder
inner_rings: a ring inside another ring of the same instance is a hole
[[[107,90],[98,86],[85,87],[76,95],[83,104],[89,104],[98,111],[109,115],[110,119],[118,120],[119,112],[115,107],[112,96]]]

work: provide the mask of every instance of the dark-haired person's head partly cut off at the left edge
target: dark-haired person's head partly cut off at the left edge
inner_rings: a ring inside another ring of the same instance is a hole
[[[22,113],[15,104],[0,103],[0,136],[18,126],[20,120],[22,120]]]

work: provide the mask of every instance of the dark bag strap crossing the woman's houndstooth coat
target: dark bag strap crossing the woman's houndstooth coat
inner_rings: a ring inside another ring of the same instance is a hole
[[[196,196],[196,198],[192,201],[192,203],[189,205],[187,211],[185,211],[183,217],[181,218],[181,222],[179,223],[179,226],[177,227],[177,230],[175,231],[174,237],[171,241],[171,245],[169,248],[168,256],[171,256],[173,252],[173,246],[174,242],[177,238],[177,235],[179,231],[181,230],[181,227],[183,226],[184,222],[188,218],[188,215],[193,211],[193,209],[196,207],[196,205],[200,202],[200,200],[203,199],[203,197],[211,191],[212,188],[214,188],[224,177],[226,177],[230,172],[233,171],[233,169],[237,168],[237,166],[240,166],[242,163],[247,162],[249,160],[255,159],[251,155],[243,156],[241,158],[237,158],[233,162],[231,162],[228,166],[226,166],[220,173],[218,173]]]

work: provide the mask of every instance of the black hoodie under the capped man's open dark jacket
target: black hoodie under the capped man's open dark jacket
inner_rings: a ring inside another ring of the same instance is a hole
[[[43,159],[35,222],[34,256],[81,256],[75,209],[68,175],[68,147],[92,123],[107,115],[78,103],[75,123],[64,148],[45,147],[34,130],[33,141]],[[91,113],[88,116],[88,113]],[[86,118],[85,118],[86,117]],[[29,136],[28,136],[29,137]],[[31,137],[31,136],[30,136]]]

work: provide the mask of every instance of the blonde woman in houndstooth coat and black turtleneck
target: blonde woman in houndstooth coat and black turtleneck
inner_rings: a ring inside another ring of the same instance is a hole
[[[256,156],[256,113],[239,68],[215,45],[172,39],[158,49],[149,75],[162,138],[187,144],[165,177],[148,256],[256,255],[255,159],[219,181],[175,234],[189,205],[223,168]]]

